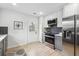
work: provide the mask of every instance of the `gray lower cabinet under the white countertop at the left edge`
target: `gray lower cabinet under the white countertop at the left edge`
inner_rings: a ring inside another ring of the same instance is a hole
[[[0,56],[6,55],[6,49],[7,49],[7,36],[0,41]]]

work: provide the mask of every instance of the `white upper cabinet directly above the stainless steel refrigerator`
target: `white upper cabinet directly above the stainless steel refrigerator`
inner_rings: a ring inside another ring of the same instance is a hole
[[[76,3],[70,3],[66,6],[64,6],[63,9],[63,17],[69,17],[74,14],[76,14],[77,10],[77,4]]]

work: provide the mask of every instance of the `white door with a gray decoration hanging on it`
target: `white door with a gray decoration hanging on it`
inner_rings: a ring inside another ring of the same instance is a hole
[[[28,21],[28,43],[39,41],[38,39],[38,19]]]

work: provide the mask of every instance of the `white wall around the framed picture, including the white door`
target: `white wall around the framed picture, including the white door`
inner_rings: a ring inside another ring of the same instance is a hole
[[[22,21],[23,29],[14,30],[14,21]],[[29,24],[34,22],[36,32],[29,32]],[[0,26],[8,26],[8,48],[28,42],[39,41],[38,20],[36,17],[9,9],[0,9]]]

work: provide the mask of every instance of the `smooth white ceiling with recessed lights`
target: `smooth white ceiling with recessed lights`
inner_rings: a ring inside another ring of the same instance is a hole
[[[13,9],[34,16],[45,16],[63,8],[67,3],[0,3],[0,8]],[[41,12],[41,14],[40,14]]]

